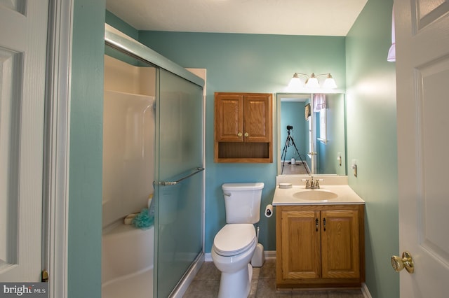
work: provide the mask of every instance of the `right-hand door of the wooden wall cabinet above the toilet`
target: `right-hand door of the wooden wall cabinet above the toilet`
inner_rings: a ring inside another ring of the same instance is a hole
[[[272,135],[272,94],[246,95],[244,110],[245,141],[270,142]]]

